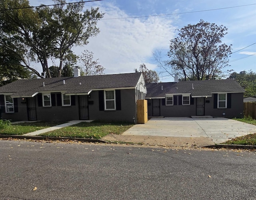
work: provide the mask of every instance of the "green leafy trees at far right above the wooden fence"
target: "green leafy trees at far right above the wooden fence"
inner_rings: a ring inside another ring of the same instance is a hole
[[[245,90],[244,97],[256,97],[256,73],[250,71],[233,72],[229,78],[236,80]]]

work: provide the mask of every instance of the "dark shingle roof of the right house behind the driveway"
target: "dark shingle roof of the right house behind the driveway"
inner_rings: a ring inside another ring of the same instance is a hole
[[[196,97],[211,96],[212,93],[219,92],[244,92],[234,79],[147,83],[146,87],[148,91],[146,98],[165,97],[166,94],[191,93],[192,97]]]

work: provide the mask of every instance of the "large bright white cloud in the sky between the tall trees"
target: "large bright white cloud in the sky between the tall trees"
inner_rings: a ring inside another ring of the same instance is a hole
[[[127,17],[126,13],[113,4],[100,7],[104,18]],[[156,65],[147,63],[155,49],[168,49],[174,37],[175,28],[167,18],[131,18],[101,20],[98,23],[100,34],[90,39],[84,48],[94,52],[94,59],[106,68],[105,73],[133,72],[141,63],[149,69]],[[83,49],[84,49],[83,48]],[[76,48],[76,53],[83,49]]]

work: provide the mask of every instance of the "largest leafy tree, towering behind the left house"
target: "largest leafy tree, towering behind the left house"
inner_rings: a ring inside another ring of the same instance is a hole
[[[16,53],[22,61],[20,65],[41,78],[43,75],[30,66],[31,61],[39,62],[46,77],[51,77],[48,59],[58,60],[60,77],[63,62],[72,48],[88,44],[88,39],[99,33],[96,25],[103,17],[99,8],[82,12],[84,2],[68,5],[65,0],[53,2],[53,7],[39,8],[31,8],[28,0],[2,0],[0,4],[1,46]]]

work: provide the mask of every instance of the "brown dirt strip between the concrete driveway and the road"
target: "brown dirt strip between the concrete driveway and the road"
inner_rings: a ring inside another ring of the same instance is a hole
[[[116,135],[109,134],[104,138],[105,141],[122,143],[139,143],[144,145],[158,146],[205,146],[214,145],[214,142],[208,137],[161,137],[161,136],[141,136],[141,135]]]

